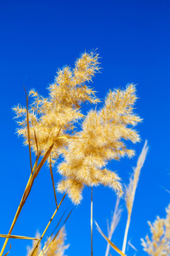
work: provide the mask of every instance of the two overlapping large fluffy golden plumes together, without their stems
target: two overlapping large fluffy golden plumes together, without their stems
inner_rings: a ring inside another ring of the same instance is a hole
[[[29,93],[34,99],[28,108],[30,147],[39,156],[53,145],[52,163],[62,154],[64,161],[58,171],[63,178],[57,184],[57,191],[67,192],[75,204],[81,201],[84,185],[110,186],[121,196],[120,178],[106,169],[106,164],[112,159],[134,155],[124,140],[140,141],[133,128],[141,122],[133,112],[137,100],[135,85],[110,91],[101,110],[90,110],[86,116],[81,114],[82,102],[99,102],[94,90],[86,86],[98,70],[98,54],[84,53],[73,70],[66,67],[57,72],[55,83],[48,88],[49,97],[41,97],[35,90]],[[29,144],[26,107],[18,105],[13,110],[21,118],[18,134]],[[82,129],[75,132],[74,123],[81,118]]]

